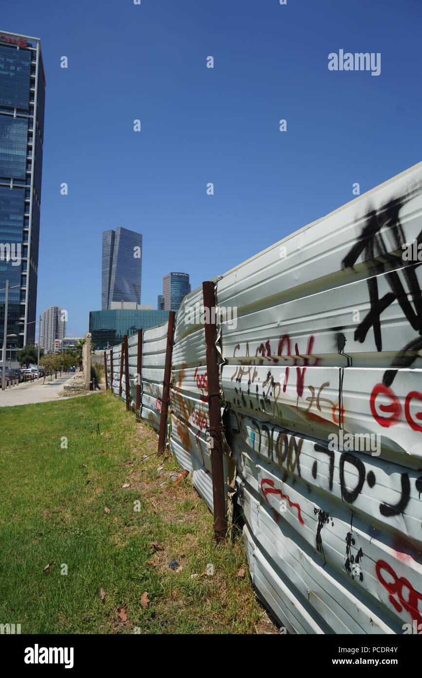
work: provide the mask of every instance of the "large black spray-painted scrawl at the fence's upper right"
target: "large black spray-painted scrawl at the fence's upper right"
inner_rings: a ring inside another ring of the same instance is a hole
[[[387,262],[391,260],[391,255],[388,252],[402,252],[402,245],[406,242],[399,212],[403,205],[413,197],[413,194],[408,194],[406,197],[398,197],[385,203],[379,210],[370,210],[367,213],[365,226],[363,226],[357,242],[342,261],[342,267],[353,267],[358,258],[362,256],[363,261],[378,259],[378,270],[379,272],[384,271],[386,266],[382,261]],[[383,236],[380,233],[382,228],[388,228],[390,245],[385,245]],[[417,242],[422,242],[422,231],[417,237]],[[381,352],[381,313],[397,300],[411,327],[420,336],[408,342],[397,353],[392,361],[392,367],[409,367],[417,358],[417,352],[422,348],[422,294],[416,275],[416,268],[420,264],[409,264],[408,266],[404,264],[405,262],[400,259],[400,266],[404,266],[401,273],[408,288],[408,293],[404,288],[398,271],[388,271],[385,273],[385,279],[388,285],[390,285],[391,292],[384,294],[381,299],[379,298],[376,277],[369,277],[367,279],[371,308],[354,332],[354,339],[362,343],[372,327],[377,351]],[[411,298],[413,306],[408,297]],[[397,370],[386,370],[383,375],[383,384],[391,386],[396,374]]]

